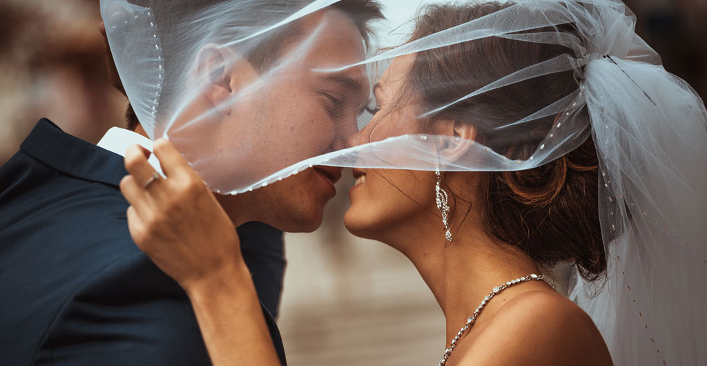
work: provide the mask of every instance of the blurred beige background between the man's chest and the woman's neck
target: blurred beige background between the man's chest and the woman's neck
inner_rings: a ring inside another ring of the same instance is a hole
[[[444,316],[414,266],[341,223],[353,185],[337,184],[314,234],[286,234],[280,326],[289,365],[436,365]]]

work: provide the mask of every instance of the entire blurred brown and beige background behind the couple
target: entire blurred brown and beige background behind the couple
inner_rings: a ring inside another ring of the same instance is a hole
[[[391,4],[396,1],[382,1]],[[665,68],[707,95],[707,0],[626,1]],[[0,163],[40,117],[97,142],[127,100],[107,80],[98,0],[0,0]],[[286,235],[279,324],[290,365],[436,365],[443,315],[401,254],[341,224],[353,183],[314,234]],[[423,244],[423,243],[421,243]]]

